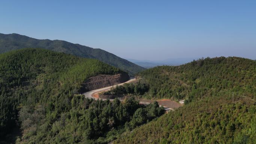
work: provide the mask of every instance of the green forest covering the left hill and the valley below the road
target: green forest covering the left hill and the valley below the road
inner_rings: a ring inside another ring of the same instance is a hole
[[[123,104],[77,95],[87,78],[121,72],[96,59],[44,49],[1,54],[1,143],[9,143],[17,127],[22,134],[16,143],[107,143],[116,131],[133,129],[163,114],[159,105],[142,107],[132,98]],[[141,113],[144,117],[136,116]]]

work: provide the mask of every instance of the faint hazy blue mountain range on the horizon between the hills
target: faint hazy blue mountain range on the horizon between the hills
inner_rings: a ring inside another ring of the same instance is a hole
[[[137,59],[127,59],[128,61],[131,61],[137,65],[140,65],[144,68],[152,68],[155,66],[161,66],[161,65],[181,65],[186,64],[188,62],[193,61],[193,59],[197,60],[199,58],[170,58],[165,60],[156,60],[156,61],[150,61],[150,60],[137,60]]]

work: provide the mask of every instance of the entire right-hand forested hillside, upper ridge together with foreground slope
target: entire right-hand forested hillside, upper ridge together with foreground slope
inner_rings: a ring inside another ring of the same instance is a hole
[[[113,144],[255,144],[255,68],[251,59],[219,57],[142,71],[149,85],[142,97],[185,99],[185,105]]]

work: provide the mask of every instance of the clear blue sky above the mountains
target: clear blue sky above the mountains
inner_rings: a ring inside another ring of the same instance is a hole
[[[1,0],[0,33],[129,59],[256,59],[256,0]]]

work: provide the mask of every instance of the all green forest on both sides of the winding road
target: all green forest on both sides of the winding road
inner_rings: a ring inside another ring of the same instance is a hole
[[[0,54],[0,144],[256,144],[256,61],[202,58],[150,68],[103,93],[122,102],[79,94],[89,77],[122,72],[44,49]],[[157,102],[137,98],[186,100],[164,114]]]

